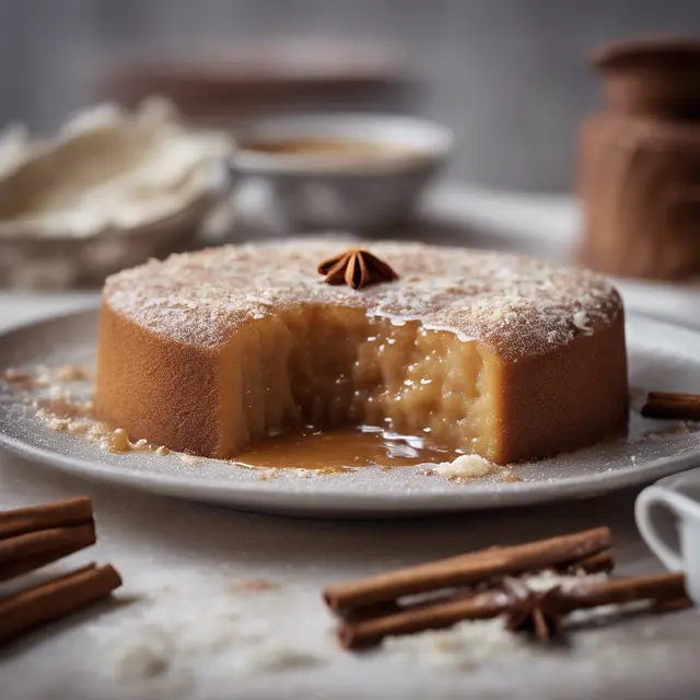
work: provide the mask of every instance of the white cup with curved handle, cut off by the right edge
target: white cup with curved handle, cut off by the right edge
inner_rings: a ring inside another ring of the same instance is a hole
[[[684,571],[686,591],[700,605],[700,470],[662,479],[634,506],[642,537],[672,571]]]

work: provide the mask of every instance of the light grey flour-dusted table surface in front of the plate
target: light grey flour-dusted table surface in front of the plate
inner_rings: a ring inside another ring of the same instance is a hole
[[[0,294],[0,328],[95,303],[91,294]],[[262,516],[83,481],[0,454],[0,508],[94,500],[98,544],[71,563],[113,563],[115,600],[0,651],[0,697],[696,698],[700,618],[638,616],[573,633],[567,646],[480,654],[450,637],[340,651],[326,583],[607,524],[619,573],[660,570],[633,524],[637,491],[421,520]],[[265,580],[269,590],[250,582]],[[447,651],[445,651],[445,644]],[[478,644],[477,644],[478,645]]]

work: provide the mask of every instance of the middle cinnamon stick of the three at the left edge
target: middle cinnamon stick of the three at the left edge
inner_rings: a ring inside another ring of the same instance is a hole
[[[95,526],[92,522],[2,539],[0,540],[0,581],[15,575],[13,571],[19,570],[22,573],[31,571],[27,567],[32,560],[48,563],[94,542]]]

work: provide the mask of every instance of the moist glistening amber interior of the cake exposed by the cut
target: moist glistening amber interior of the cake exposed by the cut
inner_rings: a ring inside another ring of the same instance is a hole
[[[229,352],[231,445],[303,424],[378,425],[490,452],[489,373],[477,342],[358,308],[306,306],[256,320]]]

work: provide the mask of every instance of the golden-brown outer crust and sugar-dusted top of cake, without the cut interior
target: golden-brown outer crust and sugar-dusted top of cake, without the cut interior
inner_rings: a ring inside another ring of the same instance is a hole
[[[351,245],[226,246],[110,277],[101,312],[98,415],[135,439],[232,456],[224,433],[233,420],[237,335],[284,310],[315,305],[358,308],[397,326],[420,322],[476,341],[498,382],[498,440],[486,453],[494,462],[590,444],[625,420],[622,304],[600,276],[512,255],[373,243],[398,281],[359,292],[325,284],[318,262]]]

